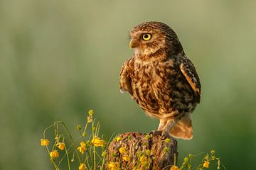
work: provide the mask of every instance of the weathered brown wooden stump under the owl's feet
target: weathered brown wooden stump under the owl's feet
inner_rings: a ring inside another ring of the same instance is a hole
[[[108,147],[106,169],[170,169],[176,161],[177,141],[161,135],[127,132]]]

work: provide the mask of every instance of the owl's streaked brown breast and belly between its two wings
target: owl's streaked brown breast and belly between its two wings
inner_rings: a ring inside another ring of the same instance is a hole
[[[133,98],[147,113],[193,110],[193,91],[173,60],[135,62]]]

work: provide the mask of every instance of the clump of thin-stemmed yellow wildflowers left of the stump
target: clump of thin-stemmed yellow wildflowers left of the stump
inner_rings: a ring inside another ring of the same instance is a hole
[[[73,166],[77,166],[79,170],[104,169],[107,157],[105,150],[107,143],[103,140],[103,135],[101,137],[99,136],[100,120],[93,117],[94,111],[90,110],[88,111],[87,121],[83,130],[82,125],[77,125],[76,128],[79,131],[77,138],[73,137],[68,126],[62,121],[55,121],[53,125],[48,126],[43,131],[41,145],[46,147],[50,162],[52,162],[56,170],[59,170],[60,166],[65,163],[63,160],[67,160],[68,170],[71,169],[72,164]],[[90,127],[88,126],[89,124],[91,124],[90,134],[87,135]],[[68,133],[67,136],[60,131],[60,126],[63,126],[64,131]],[[50,141],[46,137],[46,131],[52,129],[55,135],[53,137],[53,145],[50,147]],[[69,142],[66,142],[67,139]],[[62,157],[60,157],[60,154]],[[75,160],[78,160],[78,162]]]

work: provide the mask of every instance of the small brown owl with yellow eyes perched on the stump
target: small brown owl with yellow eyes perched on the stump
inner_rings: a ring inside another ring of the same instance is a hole
[[[133,55],[122,65],[119,88],[151,117],[158,132],[191,140],[191,113],[200,103],[201,84],[191,60],[169,26],[146,22],[134,27],[129,47]]]

